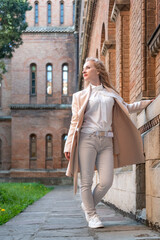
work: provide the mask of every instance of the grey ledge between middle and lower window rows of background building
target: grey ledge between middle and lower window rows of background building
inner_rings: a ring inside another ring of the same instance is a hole
[[[11,104],[11,110],[66,110],[71,104]]]

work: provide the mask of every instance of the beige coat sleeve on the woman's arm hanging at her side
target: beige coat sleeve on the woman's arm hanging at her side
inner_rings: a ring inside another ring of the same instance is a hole
[[[64,146],[64,152],[71,152],[72,139],[73,139],[73,135],[75,133],[77,123],[78,123],[78,102],[77,102],[76,95],[73,94],[73,97],[72,97],[72,118],[71,118],[70,128],[69,128],[69,131],[68,131],[67,140],[66,140],[66,143],[65,143],[65,146]]]

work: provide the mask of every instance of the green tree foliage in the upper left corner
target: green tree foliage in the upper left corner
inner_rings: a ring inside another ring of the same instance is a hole
[[[27,28],[26,11],[32,7],[28,0],[0,0],[0,59],[11,58],[22,43],[22,32]],[[4,72],[0,64],[0,72]]]

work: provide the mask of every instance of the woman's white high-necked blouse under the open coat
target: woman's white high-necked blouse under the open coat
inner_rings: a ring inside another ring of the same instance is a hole
[[[112,131],[114,98],[103,86],[91,84],[91,95],[84,114],[81,132]]]

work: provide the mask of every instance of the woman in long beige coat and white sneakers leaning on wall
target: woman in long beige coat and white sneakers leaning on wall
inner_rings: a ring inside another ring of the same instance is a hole
[[[144,162],[141,136],[129,113],[147,107],[152,100],[132,104],[123,101],[111,86],[104,64],[87,58],[83,77],[88,87],[73,94],[72,119],[64,152],[69,160],[67,176],[74,176],[75,192],[80,170],[82,209],[88,226],[103,227],[95,206],[113,182],[114,167]],[[99,183],[91,191],[95,165]]]

